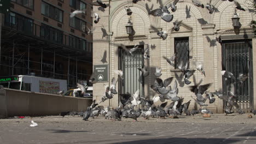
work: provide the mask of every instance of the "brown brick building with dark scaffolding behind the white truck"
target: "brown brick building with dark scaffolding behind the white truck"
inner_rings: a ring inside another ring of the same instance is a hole
[[[67,80],[75,87],[92,73],[90,0],[11,0],[2,14],[1,76],[29,75]],[[74,17],[74,10],[84,11]]]

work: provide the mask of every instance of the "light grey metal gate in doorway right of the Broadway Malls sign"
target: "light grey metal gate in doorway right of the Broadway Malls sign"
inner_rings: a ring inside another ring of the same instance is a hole
[[[118,54],[119,69],[123,70],[123,80],[119,80],[119,94],[133,94],[137,91],[137,89],[139,89],[140,95],[144,95],[144,77],[142,78],[142,83],[139,82],[139,76],[141,75],[141,71],[137,69],[141,68],[144,64],[143,45],[139,46],[139,48],[135,52],[133,52],[134,56],[127,54],[120,47]]]

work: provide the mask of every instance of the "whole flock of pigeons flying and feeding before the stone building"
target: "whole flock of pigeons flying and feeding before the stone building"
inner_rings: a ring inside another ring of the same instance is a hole
[[[131,1],[132,1],[132,3],[137,3],[138,1],[141,1],[141,0],[131,0]],[[147,0],[147,1],[150,1],[150,0]],[[226,0],[222,0],[222,1],[226,1]],[[228,1],[233,2],[234,0],[228,0]],[[158,0],[158,2],[161,2],[161,0]],[[153,7],[149,8],[148,4],[146,3],[146,9],[148,10],[149,15],[158,16],[158,17],[161,17],[161,19],[166,22],[171,22],[173,20],[173,15],[168,10],[168,8],[171,8],[172,12],[176,11],[177,10],[176,4],[178,2],[179,2],[179,0],[174,0],[173,3],[167,4],[164,7],[162,7],[162,4],[161,4],[160,8],[154,9],[154,10],[152,10]],[[191,2],[194,5],[196,5],[196,7],[206,8],[210,14],[212,14],[214,11],[218,11],[218,9],[215,8],[211,4],[211,2],[212,2],[211,0],[210,0],[210,3],[206,4],[206,6],[204,6],[200,1],[191,0]],[[234,3],[236,5],[236,9],[245,11],[245,9],[243,9],[237,1],[234,1]],[[102,7],[102,8],[109,7],[109,5],[102,3],[101,0],[97,0],[96,2],[94,2],[92,4],[96,5],[98,7]],[[132,15],[132,10],[129,7],[125,6],[125,9],[127,11],[127,15]],[[186,13],[189,10],[190,10],[190,8],[188,9],[188,7],[186,7]],[[75,14],[78,14],[78,13],[82,13],[82,12],[74,11],[71,14],[71,17],[73,17]],[[100,21],[100,16],[97,13],[92,13],[92,14],[95,17],[94,22],[98,23],[98,21]],[[188,17],[188,15],[187,15],[187,17]],[[174,31],[179,31],[179,26],[181,26],[181,23],[182,23],[182,21],[179,21],[179,20],[176,20],[173,22]],[[154,31],[157,32],[157,34],[159,35],[160,38],[162,38],[162,40],[165,40],[167,38],[166,31],[159,31],[158,28],[156,28],[154,26],[150,26],[150,27],[152,29],[154,29]],[[93,31],[94,31],[94,29],[88,28],[88,34],[92,34]],[[212,40],[210,38],[207,38],[207,40],[212,45]],[[216,37],[215,41],[218,41],[219,43],[222,42],[220,40],[220,35],[218,35]],[[138,49],[138,45],[134,46],[132,49],[128,49],[123,44],[114,44],[114,45],[118,45],[118,46],[122,47],[126,51],[127,55],[130,55],[130,56],[133,56],[133,52],[135,52]],[[149,58],[150,58],[150,56],[148,55],[148,47],[147,47],[146,50],[144,51],[144,59],[149,59]],[[174,53],[174,55],[170,58],[165,57],[165,56],[163,56],[163,58],[166,59],[167,63],[169,63],[172,67],[174,67],[174,63],[177,59],[177,53]],[[103,60],[102,60],[102,62],[103,62]],[[204,76],[206,75],[205,71],[203,69],[202,63],[193,62],[193,64],[195,65],[196,69],[198,71],[200,71],[200,73],[202,75],[204,75]],[[179,70],[181,70],[183,73],[183,79],[184,79],[184,83],[186,85],[190,85],[191,81],[189,81],[189,79],[191,76],[194,75],[194,73],[196,71],[194,69],[188,69],[188,65],[189,65],[188,61],[187,62],[180,61],[177,64],[177,68]],[[145,65],[143,65],[142,68],[138,68],[138,69],[141,71],[141,75],[139,76],[139,82],[143,83],[142,78],[147,77],[149,75],[149,71],[147,71],[147,68]],[[118,74],[118,79],[120,81],[123,80],[123,71],[122,70],[114,70],[114,73]],[[235,81],[237,80],[240,83],[243,83],[248,79],[248,74],[240,74],[238,76],[238,78],[236,79],[235,76],[230,71],[222,70],[222,71],[220,71],[220,73],[223,75],[223,77],[225,77],[226,81],[229,79],[232,79]],[[85,121],[87,121],[89,117],[94,118],[95,116],[98,116],[98,115],[102,115],[106,118],[111,118],[111,119],[113,118],[113,119],[119,120],[119,121],[121,120],[121,117],[133,118],[136,121],[139,116],[142,116],[146,119],[149,119],[149,117],[161,117],[161,118],[165,118],[166,116],[177,117],[177,115],[182,115],[183,112],[187,116],[190,116],[190,115],[194,116],[196,113],[200,113],[200,112],[201,113],[212,113],[210,110],[205,109],[203,106],[208,106],[206,104],[207,99],[209,100],[210,104],[214,103],[214,101],[216,100],[214,98],[215,96],[217,96],[219,99],[222,99],[224,101],[224,105],[225,105],[224,111],[226,114],[234,112],[234,111],[232,111],[233,106],[235,106],[237,108],[238,113],[240,113],[240,114],[245,113],[245,111],[240,110],[240,108],[236,102],[237,96],[235,94],[234,83],[231,83],[229,85],[230,91],[228,92],[228,94],[223,95],[221,91],[216,91],[216,92],[207,91],[207,89],[211,87],[212,83],[207,83],[205,85],[201,85],[202,80],[201,80],[201,82],[196,83],[195,77],[194,77],[194,86],[188,86],[188,87],[189,87],[190,91],[193,92],[196,96],[196,98],[194,98],[192,96],[191,97],[196,101],[197,104],[202,106],[202,109],[190,111],[189,105],[190,105],[191,100],[187,101],[186,103],[183,103],[184,98],[178,97],[177,81],[176,80],[174,81],[173,87],[170,86],[174,77],[168,77],[167,79],[162,80],[160,78],[161,75],[162,75],[161,68],[157,67],[155,70],[155,73],[154,73],[155,82],[153,83],[151,88],[153,89],[153,91],[155,91],[159,95],[154,96],[154,98],[152,100],[149,100],[148,98],[145,98],[142,95],[139,95],[139,89],[137,89],[137,91],[134,94],[130,94],[130,93],[120,94],[120,105],[119,105],[119,107],[117,107],[117,109],[110,110],[109,107],[104,108],[103,106],[98,106],[98,104],[102,103],[103,101],[105,101],[107,99],[112,99],[115,94],[118,94],[118,92],[115,89],[115,85],[118,80],[116,80],[115,77],[113,77],[110,86],[104,85],[106,91],[99,103],[96,103],[96,101],[94,100],[92,105],[89,106],[85,112],[80,112],[80,113],[63,112],[63,113],[61,113],[61,115],[62,116],[80,115],[80,116],[83,116],[83,119]],[[92,84],[96,83],[96,78],[95,78],[94,74],[91,75],[90,82]],[[78,83],[78,87],[80,89],[82,89],[82,94],[86,91],[86,88],[83,85],[80,85],[79,83]],[[203,96],[203,95],[205,95],[205,96]],[[171,100],[172,103],[167,105],[167,102],[165,102],[165,100]],[[156,106],[156,102],[158,102],[158,101],[161,101],[161,103],[162,103],[160,106],[159,105]],[[138,106],[143,107],[143,109],[137,109]]]

